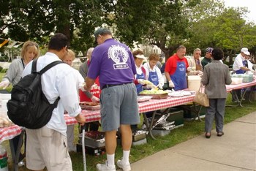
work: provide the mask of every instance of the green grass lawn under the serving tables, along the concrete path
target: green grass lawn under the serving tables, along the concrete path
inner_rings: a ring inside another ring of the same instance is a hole
[[[1,75],[0,75],[1,77]],[[227,98],[227,104],[232,104],[231,96],[229,94]],[[244,115],[252,113],[256,110],[255,102],[243,103],[246,107],[226,107],[225,112],[225,123],[236,120],[236,118],[241,118]],[[225,127],[225,126],[224,126]],[[215,127],[214,127],[215,128]],[[204,122],[200,121],[184,121],[184,126],[178,129],[173,129],[170,134],[165,137],[157,137],[157,140],[152,140],[151,137],[147,137],[147,143],[143,145],[136,145],[132,147],[130,153],[130,162],[135,162],[140,159],[150,156],[157,151],[162,151],[166,148],[170,148],[173,145],[197,137],[204,132]],[[75,126],[75,143],[78,142],[78,126]],[[9,141],[2,142],[2,145],[7,149],[9,157],[11,157]],[[82,153],[70,153],[72,159],[72,165],[74,171],[83,170],[83,154]],[[122,156],[121,146],[118,145],[116,149],[116,160],[120,159]],[[106,156],[91,156],[86,155],[87,170],[96,170],[96,164],[105,162]],[[12,170],[11,159],[9,159],[9,169]],[[26,170],[26,167],[20,167],[20,170]]]

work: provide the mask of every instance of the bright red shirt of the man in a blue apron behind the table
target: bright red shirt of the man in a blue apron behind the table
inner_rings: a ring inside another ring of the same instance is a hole
[[[186,64],[186,69],[189,67],[189,63],[187,62],[187,58],[178,58],[176,54],[173,56],[170,56],[170,58],[167,59],[166,64],[165,64],[165,72],[169,72],[169,75],[173,75],[174,72],[176,72],[177,69],[177,62],[179,61],[184,61]]]

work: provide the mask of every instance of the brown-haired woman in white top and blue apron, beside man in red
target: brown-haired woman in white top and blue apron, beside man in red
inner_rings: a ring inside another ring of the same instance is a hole
[[[160,69],[156,66],[159,59],[160,56],[157,53],[151,53],[149,61],[143,66],[146,69],[146,80],[149,80],[151,83],[154,83],[155,86],[162,89],[162,86],[164,86],[164,78],[162,77]]]

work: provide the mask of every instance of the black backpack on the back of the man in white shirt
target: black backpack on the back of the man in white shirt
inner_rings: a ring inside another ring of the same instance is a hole
[[[50,121],[53,109],[57,107],[59,97],[53,104],[48,102],[42,92],[41,75],[62,61],[53,61],[37,72],[37,59],[31,66],[31,74],[23,77],[11,91],[11,99],[7,102],[7,115],[18,126],[28,129],[39,129]]]

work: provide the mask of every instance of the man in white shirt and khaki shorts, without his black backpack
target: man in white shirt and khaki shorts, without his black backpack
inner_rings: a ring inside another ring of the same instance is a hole
[[[37,60],[37,72],[52,63],[60,61],[67,54],[68,39],[64,34],[51,37],[48,52]],[[31,73],[30,62],[23,71],[23,77]],[[67,149],[67,125],[64,110],[82,125],[86,118],[80,115],[76,80],[72,68],[67,64],[58,64],[41,76],[42,92],[50,104],[60,100],[53,110],[50,121],[39,129],[26,129],[26,166],[29,170],[72,170]]]

